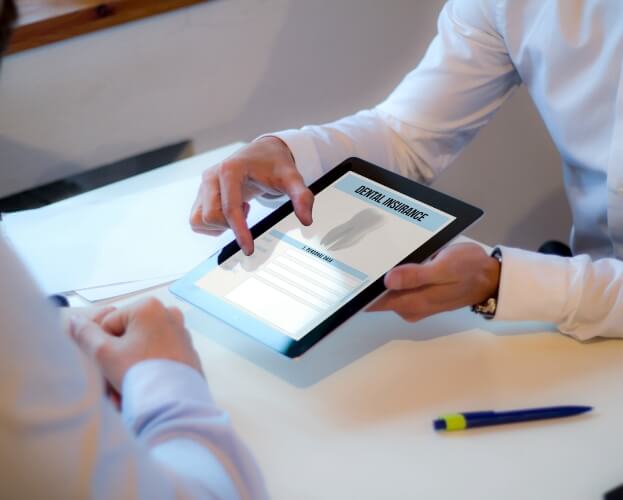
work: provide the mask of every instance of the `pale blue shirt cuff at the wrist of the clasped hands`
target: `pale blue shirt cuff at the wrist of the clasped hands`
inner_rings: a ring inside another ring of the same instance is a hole
[[[121,386],[121,415],[136,434],[160,415],[163,408],[180,402],[216,405],[208,384],[194,368],[168,359],[150,359],[135,364]]]

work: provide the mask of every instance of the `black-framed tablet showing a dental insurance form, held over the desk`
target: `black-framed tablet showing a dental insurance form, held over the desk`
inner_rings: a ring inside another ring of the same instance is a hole
[[[309,186],[311,226],[287,202],[171,285],[181,299],[297,357],[385,290],[383,276],[422,262],[482,210],[359,158]]]

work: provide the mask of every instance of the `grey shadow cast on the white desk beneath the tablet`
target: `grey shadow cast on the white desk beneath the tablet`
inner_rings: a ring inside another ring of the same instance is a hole
[[[395,340],[426,342],[473,329],[505,336],[544,330],[554,331],[553,327],[542,323],[486,321],[469,309],[443,313],[417,323],[407,323],[394,313],[359,313],[303,356],[290,359],[197,308],[189,308],[184,315],[191,330],[206,335],[264,370],[300,388],[320,382]]]

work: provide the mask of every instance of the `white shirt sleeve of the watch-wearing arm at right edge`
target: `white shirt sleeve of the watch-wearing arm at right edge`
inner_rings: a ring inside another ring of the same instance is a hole
[[[502,250],[496,319],[554,323],[579,340],[623,337],[623,262]]]

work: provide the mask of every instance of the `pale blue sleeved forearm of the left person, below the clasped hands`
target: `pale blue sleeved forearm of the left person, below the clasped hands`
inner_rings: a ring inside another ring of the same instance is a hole
[[[195,370],[146,361],[128,372],[122,392],[126,424],[185,489],[197,497],[266,497],[257,465]]]

